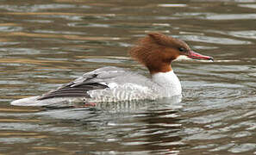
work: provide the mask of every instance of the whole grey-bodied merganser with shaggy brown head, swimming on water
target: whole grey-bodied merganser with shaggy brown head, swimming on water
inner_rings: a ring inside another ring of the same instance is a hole
[[[181,84],[172,71],[172,61],[180,57],[213,60],[193,52],[183,40],[159,33],[147,34],[129,53],[147,67],[151,78],[128,69],[107,66],[86,72],[82,77],[42,96],[19,99],[11,104],[43,106],[64,102],[119,102],[180,96]]]

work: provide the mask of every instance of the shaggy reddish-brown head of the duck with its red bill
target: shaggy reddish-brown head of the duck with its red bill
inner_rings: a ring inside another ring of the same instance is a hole
[[[183,40],[159,33],[151,33],[140,39],[129,53],[132,58],[146,65],[151,74],[172,71],[172,60],[180,55],[190,59],[212,59],[193,52]]]

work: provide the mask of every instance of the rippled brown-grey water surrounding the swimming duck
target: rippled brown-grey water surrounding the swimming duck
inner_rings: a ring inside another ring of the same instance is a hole
[[[0,152],[3,154],[256,154],[255,0],[0,2]],[[96,108],[16,107],[85,71],[128,57],[158,31],[209,62],[174,62],[181,102]]]

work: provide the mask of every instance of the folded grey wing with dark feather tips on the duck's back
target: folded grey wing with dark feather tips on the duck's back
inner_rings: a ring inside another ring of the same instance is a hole
[[[81,78],[60,86],[40,96],[37,100],[44,100],[55,97],[86,97],[91,96],[89,90],[103,90],[109,88],[108,84],[115,81],[115,78],[122,76],[125,69],[119,67],[103,67],[94,71],[86,72]]]

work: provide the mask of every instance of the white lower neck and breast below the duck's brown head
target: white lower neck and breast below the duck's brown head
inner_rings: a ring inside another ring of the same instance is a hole
[[[155,73],[152,79],[163,89],[163,96],[181,95],[181,84],[173,71]]]

